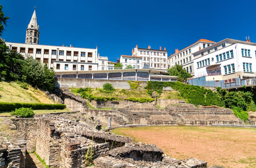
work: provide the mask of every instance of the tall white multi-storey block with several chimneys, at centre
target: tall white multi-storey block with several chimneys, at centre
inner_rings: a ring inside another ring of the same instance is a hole
[[[164,50],[162,50],[162,47],[157,49],[151,49],[150,46],[148,48],[138,48],[138,45],[132,49],[132,56],[135,57],[135,60],[137,60],[137,57],[142,57],[142,65],[148,64],[150,69],[157,69],[160,71],[166,71],[167,70],[167,50],[164,47]]]

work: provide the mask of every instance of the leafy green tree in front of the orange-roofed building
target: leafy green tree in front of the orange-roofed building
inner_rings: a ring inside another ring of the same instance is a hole
[[[167,69],[167,72],[170,76],[178,76],[180,82],[184,82],[188,77],[191,77],[191,74],[182,68],[182,65],[175,64],[172,68]]]

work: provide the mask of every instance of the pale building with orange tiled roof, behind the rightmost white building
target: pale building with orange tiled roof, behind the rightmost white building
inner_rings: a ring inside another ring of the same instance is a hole
[[[183,69],[186,69],[187,72],[193,76],[194,56],[192,53],[204,49],[205,47],[209,47],[214,43],[215,42],[211,40],[200,39],[180,51],[179,49],[175,49],[175,54],[171,54],[171,56],[168,57],[168,69],[175,66],[175,64],[182,65]]]

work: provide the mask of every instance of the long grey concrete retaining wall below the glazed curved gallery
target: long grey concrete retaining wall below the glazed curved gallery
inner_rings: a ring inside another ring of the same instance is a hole
[[[110,83],[117,89],[130,89],[130,85],[127,81],[122,80],[103,80],[103,79],[80,79],[80,78],[57,78],[56,86],[60,88],[102,88],[103,84]],[[147,86],[146,81],[141,81],[141,87]]]

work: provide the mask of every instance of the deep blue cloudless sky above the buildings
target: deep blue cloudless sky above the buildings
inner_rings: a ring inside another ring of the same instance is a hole
[[[256,1],[2,0],[10,18],[2,38],[25,42],[36,6],[39,44],[95,48],[110,61],[132,48],[166,47],[168,56],[199,39],[256,42]]]

